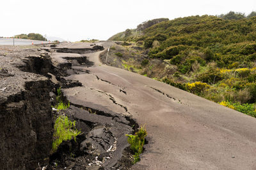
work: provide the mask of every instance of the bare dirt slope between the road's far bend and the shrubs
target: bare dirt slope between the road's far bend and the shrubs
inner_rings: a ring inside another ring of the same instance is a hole
[[[173,74],[178,70],[177,66],[161,59],[150,59],[147,53],[142,46],[131,43],[124,46],[116,42],[109,48],[109,53],[102,53],[100,61],[108,66],[119,67],[150,78],[173,78]]]

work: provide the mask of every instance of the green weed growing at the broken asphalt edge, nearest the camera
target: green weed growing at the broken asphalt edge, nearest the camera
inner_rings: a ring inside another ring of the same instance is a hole
[[[140,127],[139,131],[136,132],[135,135],[125,134],[125,136],[128,136],[127,141],[131,145],[130,148],[134,153],[133,159],[135,164],[136,162],[140,161],[140,154],[142,153],[143,145],[145,144],[145,137],[147,136],[145,125]]]

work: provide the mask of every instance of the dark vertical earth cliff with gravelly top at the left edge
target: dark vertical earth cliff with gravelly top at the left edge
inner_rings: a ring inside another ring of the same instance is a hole
[[[51,81],[34,73],[26,56],[36,49],[5,47],[0,53],[1,169],[35,169],[45,164],[52,148]]]

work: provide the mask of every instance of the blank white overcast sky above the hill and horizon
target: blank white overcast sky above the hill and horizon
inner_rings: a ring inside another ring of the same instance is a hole
[[[256,0],[1,0],[0,36],[29,32],[69,41],[108,39],[154,18],[256,11]]]

